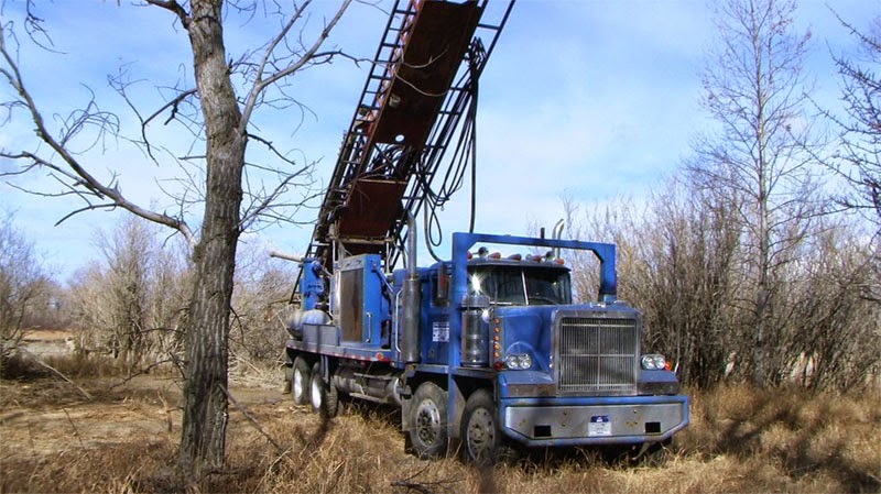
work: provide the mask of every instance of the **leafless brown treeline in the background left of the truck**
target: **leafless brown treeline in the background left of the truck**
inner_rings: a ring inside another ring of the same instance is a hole
[[[111,358],[127,373],[182,365],[192,266],[180,239],[126,217],[96,232],[98,259],[65,285],[52,279],[8,215],[0,222],[0,339],[2,359],[21,352],[28,330],[69,332],[78,355]],[[248,367],[281,356],[293,266],[265,252],[239,250],[230,328],[231,364]]]

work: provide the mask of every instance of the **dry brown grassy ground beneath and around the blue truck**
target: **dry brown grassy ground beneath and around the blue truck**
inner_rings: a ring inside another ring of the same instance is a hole
[[[881,492],[878,393],[721,387],[693,394],[692,425],[660,462],[533,451],[477,470],[404,453],[394,409],[349,405],[322,422],[281,393],[278,377],[261,387],[233,376],[228,468],[184,482],[173,475],[181,419],[173,380],[123,382],[101,364],[84,373],[81,362],[52,366],[70,381],[45,369],[0,381],[0,492]]]

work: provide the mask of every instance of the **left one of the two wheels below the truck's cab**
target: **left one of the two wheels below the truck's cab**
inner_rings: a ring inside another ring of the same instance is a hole
[[[410,446],[421,459],[447,452],[447,392],[435,383],[420,384],[410,406]]]

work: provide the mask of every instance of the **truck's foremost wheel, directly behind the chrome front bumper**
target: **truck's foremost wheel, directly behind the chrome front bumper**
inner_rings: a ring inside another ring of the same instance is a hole
[[[516,459],[516,451],[503,437],[496,416],[496,403],[487,389],[468,397],[461,417],[463,459],[478,466]]]

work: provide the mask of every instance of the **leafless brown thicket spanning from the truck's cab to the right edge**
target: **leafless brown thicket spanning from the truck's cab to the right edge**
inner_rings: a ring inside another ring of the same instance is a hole
[[[617,244],[618,295],[643,311],[644,351],[664,353],[685,383],[701,388],[724,381],[825,391],[881,383],[881,263],[869,231],[818,220],[780,253],[760,288],[735,217],[676,180],[668,185],[648,205],[567,204],[569,234]],[[596,263],[573,261],[577,293],[595,299]]]

